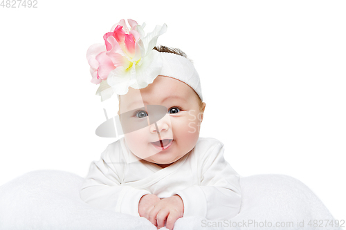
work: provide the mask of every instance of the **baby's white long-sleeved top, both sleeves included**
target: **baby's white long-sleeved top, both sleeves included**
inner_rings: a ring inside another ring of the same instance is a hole
[[[139,217],[138,202],[150,193],[158,198],[178,194],[184,217],[208,220],[233,218],[242,201],[239,175],[224,159],[224,144],[206,137],[165,168],[131,153],[122,137],[91,163],[80,197],[93,207]]]

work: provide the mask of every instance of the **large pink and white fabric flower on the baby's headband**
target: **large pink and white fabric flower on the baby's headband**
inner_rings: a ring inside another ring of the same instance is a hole
[[[132,88],[145,88],[159,75],[162,60],[156,50],[158,36],[167,30],[167,25],[145,35],[144,27],[128,19],[130,29],[122,19],[104,34],[104,44],[93,44],[86,52],[93,84],[100,84],[96,95],[101,101],[113,93],[124,95]]]

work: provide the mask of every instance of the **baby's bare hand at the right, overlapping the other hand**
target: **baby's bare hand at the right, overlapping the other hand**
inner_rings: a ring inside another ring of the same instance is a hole
[[[149,219],[152,224],[161,229],[165,226],[172,230],[174,223],[184,215],[184,203],[179,195],[173,195],[170,198],[163,198],[160,202],[156,203],[149,211]]]

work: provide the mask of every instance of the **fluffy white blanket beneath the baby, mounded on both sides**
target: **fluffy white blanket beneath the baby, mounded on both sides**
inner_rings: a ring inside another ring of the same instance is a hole
[[[84,203],[79,193],[82,180],[73,173],[44,170],[26,173],[3,184],[0,229],[156,230],[145,218],[104,211]],[[242,208],[235,218],[222,221],[180,218],[174,230],[339,229],[313,224],[314,220],[333,221],[334,218],[316,195],[295,178],[253,175],[241,178],[241,186]]]

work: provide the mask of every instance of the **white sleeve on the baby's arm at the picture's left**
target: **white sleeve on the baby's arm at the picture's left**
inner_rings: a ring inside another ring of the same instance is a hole
[[[93,161],[80,189],[80,198],[93,207],[127,213],[139,217],[138,203],[145,189],[134,189],[120,184],[119,175],[111,165],[110,145],[99,161]]]

